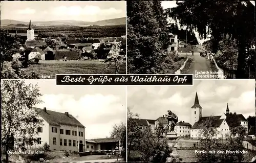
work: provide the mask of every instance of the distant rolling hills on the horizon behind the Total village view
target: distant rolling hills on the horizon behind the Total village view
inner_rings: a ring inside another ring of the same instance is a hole
[[[107,19],[107,20],[99,20],[95,22],[90,21],[77,21],[77,20],[56,20],[56,21],[32,21],[34,26],[61,26],[61,25],[69,25],[69,26],[92,26],[92,25],[125,25],[126,17],[115,18],[115,19]],[[9,26],[9,25],[18,25],[24,24],[28,25],[29,22],[3,19],[1,20],[1,26]]]

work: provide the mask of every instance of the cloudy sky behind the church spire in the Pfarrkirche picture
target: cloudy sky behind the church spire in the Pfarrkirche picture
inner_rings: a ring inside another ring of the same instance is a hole
[[[255,80],[194,80],[194,86],[127,86],[127,106],[141,119],[161,117],[172,110],[179,121],[190,123],[196,91],[203,117],[230,112],[255,116]]]

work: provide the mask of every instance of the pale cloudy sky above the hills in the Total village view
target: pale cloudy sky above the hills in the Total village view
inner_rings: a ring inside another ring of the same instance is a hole
[[[125,1],[4,1],[1,19],[98,21],[126,17]]]

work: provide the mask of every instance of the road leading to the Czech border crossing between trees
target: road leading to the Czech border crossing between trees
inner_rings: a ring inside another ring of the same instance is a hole
[[[188,53],[188,57],[193,58],[190,67],[187,70],[187,74],[193,74],[195,79],[213,79],[207,76],[197,76],[198,72],[200,73],[208,73],[211,72],[210,61],[207,57],[201,57],[200,53],[205,52],[205,49],[202,45],[197,45],[194,47],[194,56],[192,53]],[[186,56],[186,53],[179,53],[179,56]],[[217,74],[216,74],[217,75]]]

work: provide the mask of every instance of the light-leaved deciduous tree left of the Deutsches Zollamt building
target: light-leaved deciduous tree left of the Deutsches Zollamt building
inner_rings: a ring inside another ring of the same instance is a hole
[[[25,84],[24,80],[4,80],[1,83],[2,93],[2,145],[9,150],[11,135],[30,138],[41,127],[42,120],[32,108],[41,103],[38,86]],[[6,162],[9,154],[6,154]]]

